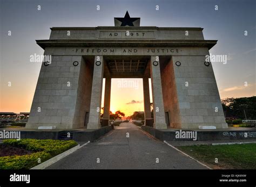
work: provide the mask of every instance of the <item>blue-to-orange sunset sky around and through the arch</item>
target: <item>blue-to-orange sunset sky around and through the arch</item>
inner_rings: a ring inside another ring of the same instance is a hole
[[[30,111],[41,63],[32,63],[29,57],[43,54],[35,40],[49,39],[50,27],[113,26],[114,17],[123,17],[126,10],[131,17],[141,18],[140,26],[203,27],[206,40],[218,40],[210,53],[228,55],[227,64],[212,63],[220,97],[256,95],[256,3],[253,0],[0,2],[0,112]],[[100,10],[96,10],[97,5]],[[215,5],[218,10],[214,10]],[[244,31],[248,32],[247,36]],[[122,80],[112,79],[111,110],[122,110],[126,116],[143,111],[142,80],[132,80],[137,81],[138,88],[119,88],[118,81]]]

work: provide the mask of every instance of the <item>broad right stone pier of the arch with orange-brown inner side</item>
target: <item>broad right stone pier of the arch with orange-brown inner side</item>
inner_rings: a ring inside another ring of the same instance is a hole
[[[212,66],[204,62],[204,56],[172,56],[163,69],[165,111],[170,112],[171,127],[227,127]]]

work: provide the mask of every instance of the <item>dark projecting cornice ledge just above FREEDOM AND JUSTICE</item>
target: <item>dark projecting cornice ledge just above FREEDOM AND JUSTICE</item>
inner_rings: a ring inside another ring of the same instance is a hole
[[[36,40],[45,47],[207,47],[211,49],[217,40]]]

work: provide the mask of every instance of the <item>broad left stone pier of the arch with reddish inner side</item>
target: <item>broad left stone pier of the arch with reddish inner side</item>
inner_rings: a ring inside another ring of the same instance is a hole
[[[77,61],[78,66],[73,66],[73,61]],[[91,70],[86,68],[82,56],[53,55],[51,64],[42,63],[26,128],[33,128],[35,124],[80,127],[82,112],[86,107],[89,110],[86,102],[90,98],[84,93],[86,89],[90,92],[91,85],[86,78],[91,80]]]

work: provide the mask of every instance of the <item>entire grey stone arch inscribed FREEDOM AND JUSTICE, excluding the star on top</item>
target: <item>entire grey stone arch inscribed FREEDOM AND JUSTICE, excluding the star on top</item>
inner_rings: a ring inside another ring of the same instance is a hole
[[[42,63],[26,128],[100,128],[102,80],[111,77],[151,78],[155,128],[226,128],[211,63],[204,64],[205,55],[217,41],[204,40],[202,30],[51,28],[49,40],[37,40],[44,54],[52,55],[52,61],[48,66]],[[107,96],[110,85],[106,84]],[[144,85],[145,96],[149,95],[147,90]],[[106,100],[104,106],[109,108],[110,99]],[[151,118],[149,109],[145,110],[146,118]],[[106,112],[103,118],[109,120]]]

